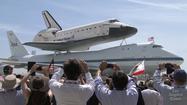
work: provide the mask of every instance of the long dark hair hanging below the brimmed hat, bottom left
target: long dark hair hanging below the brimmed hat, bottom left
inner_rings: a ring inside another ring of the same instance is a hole
[[[27,105],[51,105],[47,92],[31,91]]]

